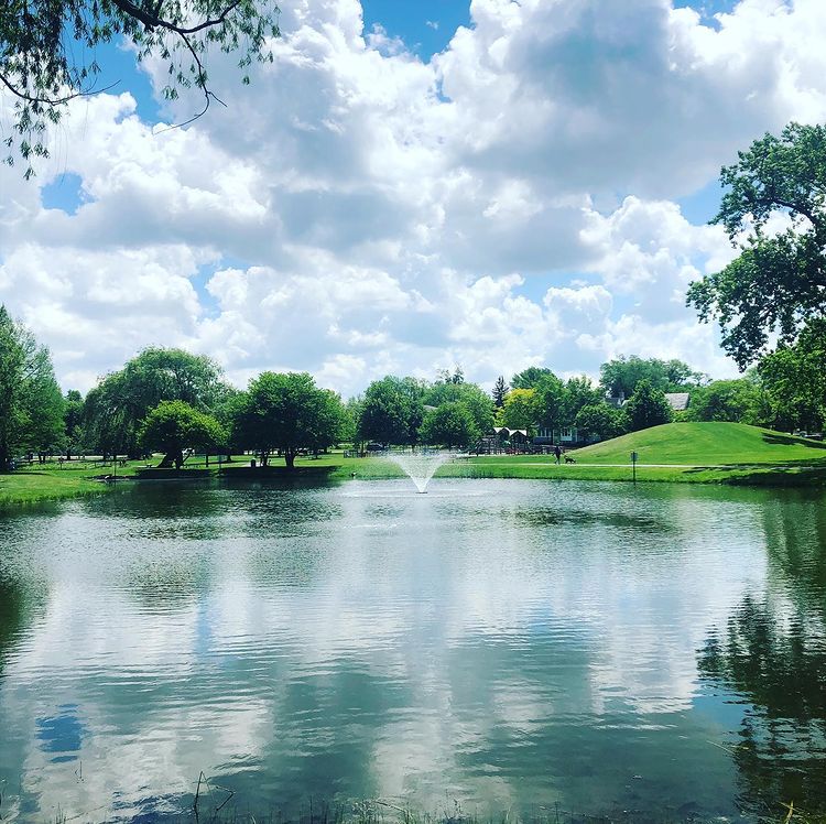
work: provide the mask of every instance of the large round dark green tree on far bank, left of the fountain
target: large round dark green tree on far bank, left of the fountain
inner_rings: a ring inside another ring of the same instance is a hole
[[[292,469],[300,449],[322,449],[337,443],[343,421],[338,395],[318,389],[306,372],[262,372],[242,395],[235,438],[253,447],[262,466],[279,452]]]

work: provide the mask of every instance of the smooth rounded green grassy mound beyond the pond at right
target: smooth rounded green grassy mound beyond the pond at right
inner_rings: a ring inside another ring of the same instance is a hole
[[[576,451],[583,464],[818,464],[826,443],[742,423],[666,423]]]

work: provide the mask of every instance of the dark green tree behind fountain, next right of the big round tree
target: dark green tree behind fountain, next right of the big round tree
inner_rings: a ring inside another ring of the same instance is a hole
[[[358,421],[362,441],[411,444],[419,441],[424,418],[424,389],[414,378],[388,375],[367,388]]]

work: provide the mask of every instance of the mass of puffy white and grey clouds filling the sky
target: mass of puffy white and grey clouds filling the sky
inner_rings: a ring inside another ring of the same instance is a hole
[[[128,93],[73,101],[37,183],[0,170],[0,301],[83,389],[149,344],[345,394],[620,353],[731,373],[684,294],[732,250],[677,199],[824,118],[826,7],[472,0],[470,20],[421,59],[357,0],[300,0],[249,87],[207,56],[229,107],[184,129],[197,95],[159,123]],[[67,172],[74,214],[44,205]]]

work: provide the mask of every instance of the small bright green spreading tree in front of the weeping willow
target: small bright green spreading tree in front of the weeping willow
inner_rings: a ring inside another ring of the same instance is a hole
[[[185,401],[161,401],[145,418],[140,441],[148,452],[163,452],[161,466],[180,469],[184,449],[211,449],[225,441],[225,433],[211,415]]]

